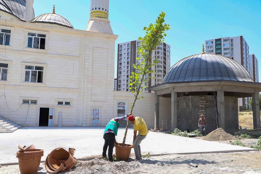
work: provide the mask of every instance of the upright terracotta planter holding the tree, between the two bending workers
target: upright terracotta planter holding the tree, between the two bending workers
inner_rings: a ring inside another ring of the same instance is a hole
[[[131,155],[131,148],[132,145],[130,144],[125,144],[125,146],[122,146],[122,143],[118,143],[118,145],[115,145],[117,159],[120,161],[127,161]]]

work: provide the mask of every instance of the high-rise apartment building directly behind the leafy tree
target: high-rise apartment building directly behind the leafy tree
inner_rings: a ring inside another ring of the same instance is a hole
[[[137,55],[137,49],[139,48],[139,40],[129,41],[118,44],[118,59],[117,59],[117,90],[118,91],[129,91],[130,84],[130,75],[131,72],[135,72],[135,68],[133,68],[133,64],[138,65],[140,61],[142,61],[142,57],[139,61],[136,60],[136,57],[140,57]],[[151,92],[148,90],[148,87],[160,84],[165,77],[166,73],[170,69],[170,46],[166,43],[160,43],[159,46],[155,48],[152,53],[152,61],[157,58],[160,63],[154,68],[156,71],[155,79],[148,79],[148,74],[145,76],[145,79],[148,82],[145,84],[147,88],[145,88],[145,92]]]

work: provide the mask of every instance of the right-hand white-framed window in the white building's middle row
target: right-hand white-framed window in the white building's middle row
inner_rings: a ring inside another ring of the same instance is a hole
[[[43,83],[43,74],[44,67],[43,66],[25,66],[25,75],[24,81],[26,82],[35,82],[35,83]]]

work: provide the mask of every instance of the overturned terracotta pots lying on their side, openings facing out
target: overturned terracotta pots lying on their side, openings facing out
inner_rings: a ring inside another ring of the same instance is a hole
[[[74,148],[69,148],[70,152],[74,154]],[[73,157],[64,148],[59,147],[51,151],[47,155],[45,160],[45,169],[48,173],[58,173],[62,171],[67,171],[73,168],[76,164],[76,158]]]

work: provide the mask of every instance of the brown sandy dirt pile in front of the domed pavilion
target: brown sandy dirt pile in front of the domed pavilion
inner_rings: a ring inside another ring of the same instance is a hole
[[[226,133],[223,128],[218,128],[203,138],[204,140],[224,141],[236,139],[233,135]]]

